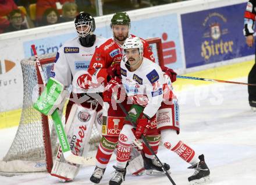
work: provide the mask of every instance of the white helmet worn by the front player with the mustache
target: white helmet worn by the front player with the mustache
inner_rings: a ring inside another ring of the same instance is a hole
[[[138,37],[128,37],[123,43],[123,49],[133,49],[138,48],[138,52],[140,53],[140,58],[143,56],[143,43]]]

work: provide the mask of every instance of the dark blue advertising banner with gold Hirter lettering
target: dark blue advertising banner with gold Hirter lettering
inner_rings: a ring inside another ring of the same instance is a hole
[[[243,35],[246,3],[181,15],[186,67],[253,55]]]

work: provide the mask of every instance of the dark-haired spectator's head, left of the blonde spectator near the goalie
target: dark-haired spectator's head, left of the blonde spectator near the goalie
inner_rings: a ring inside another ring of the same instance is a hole
[[[50,24],[59,23],[59,13],[54,8],[48,8],[44,11],[44,15],[42,15],[42,20],[39,23],[40,26],[46,26]]]

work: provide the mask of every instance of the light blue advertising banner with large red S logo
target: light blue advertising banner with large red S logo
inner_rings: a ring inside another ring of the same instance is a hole
[[[132,22],[131,34],[144,39],[162,38],[165,66],[172,69],[180,69],[183,67],[183,63],[178,27],[177,14],[174,13]]]

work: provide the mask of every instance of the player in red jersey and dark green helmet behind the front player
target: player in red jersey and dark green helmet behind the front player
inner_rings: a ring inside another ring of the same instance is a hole
[[[122,45],[127,38],[135,37],[135,35],[129,34],[130,18],[127,13],[115,13],[111,19],[111,28],[113,30],[113,38],[109,38],[109,40],[95,50],[88,72],[91,75],[97,76],[97,79],[104,79],[105,83],[109,81],[109,86],[115,86],[117,79],[111,79],[111,77],[120,76],[120,61],[123,56]],[[155,61],[154,54],[147,41],[143,39],[141,41],[144,46],[143,56],[151,61]],[[96,155],[96,168],[90,178],[91,182],[94,183],[99,183],[104,175],[106,165],[118,144],[119,133],[125,120],[125,114],[118,106],[113,107],[111,101],[113,101],[111,97],[104,96],[102,140]],[[122,104],[129,109],[130,105],[126,101],[122,102]],[[155,135],[155,140],[158,143],[158,134]],[[156,145],[155,143],[152,147],[155,148],[154,150],[157,150],[158,144]],[[146,154],[147,152],[145,151]],[[169,170],[170,166],[166,163],[164,164],[166,169]]]

